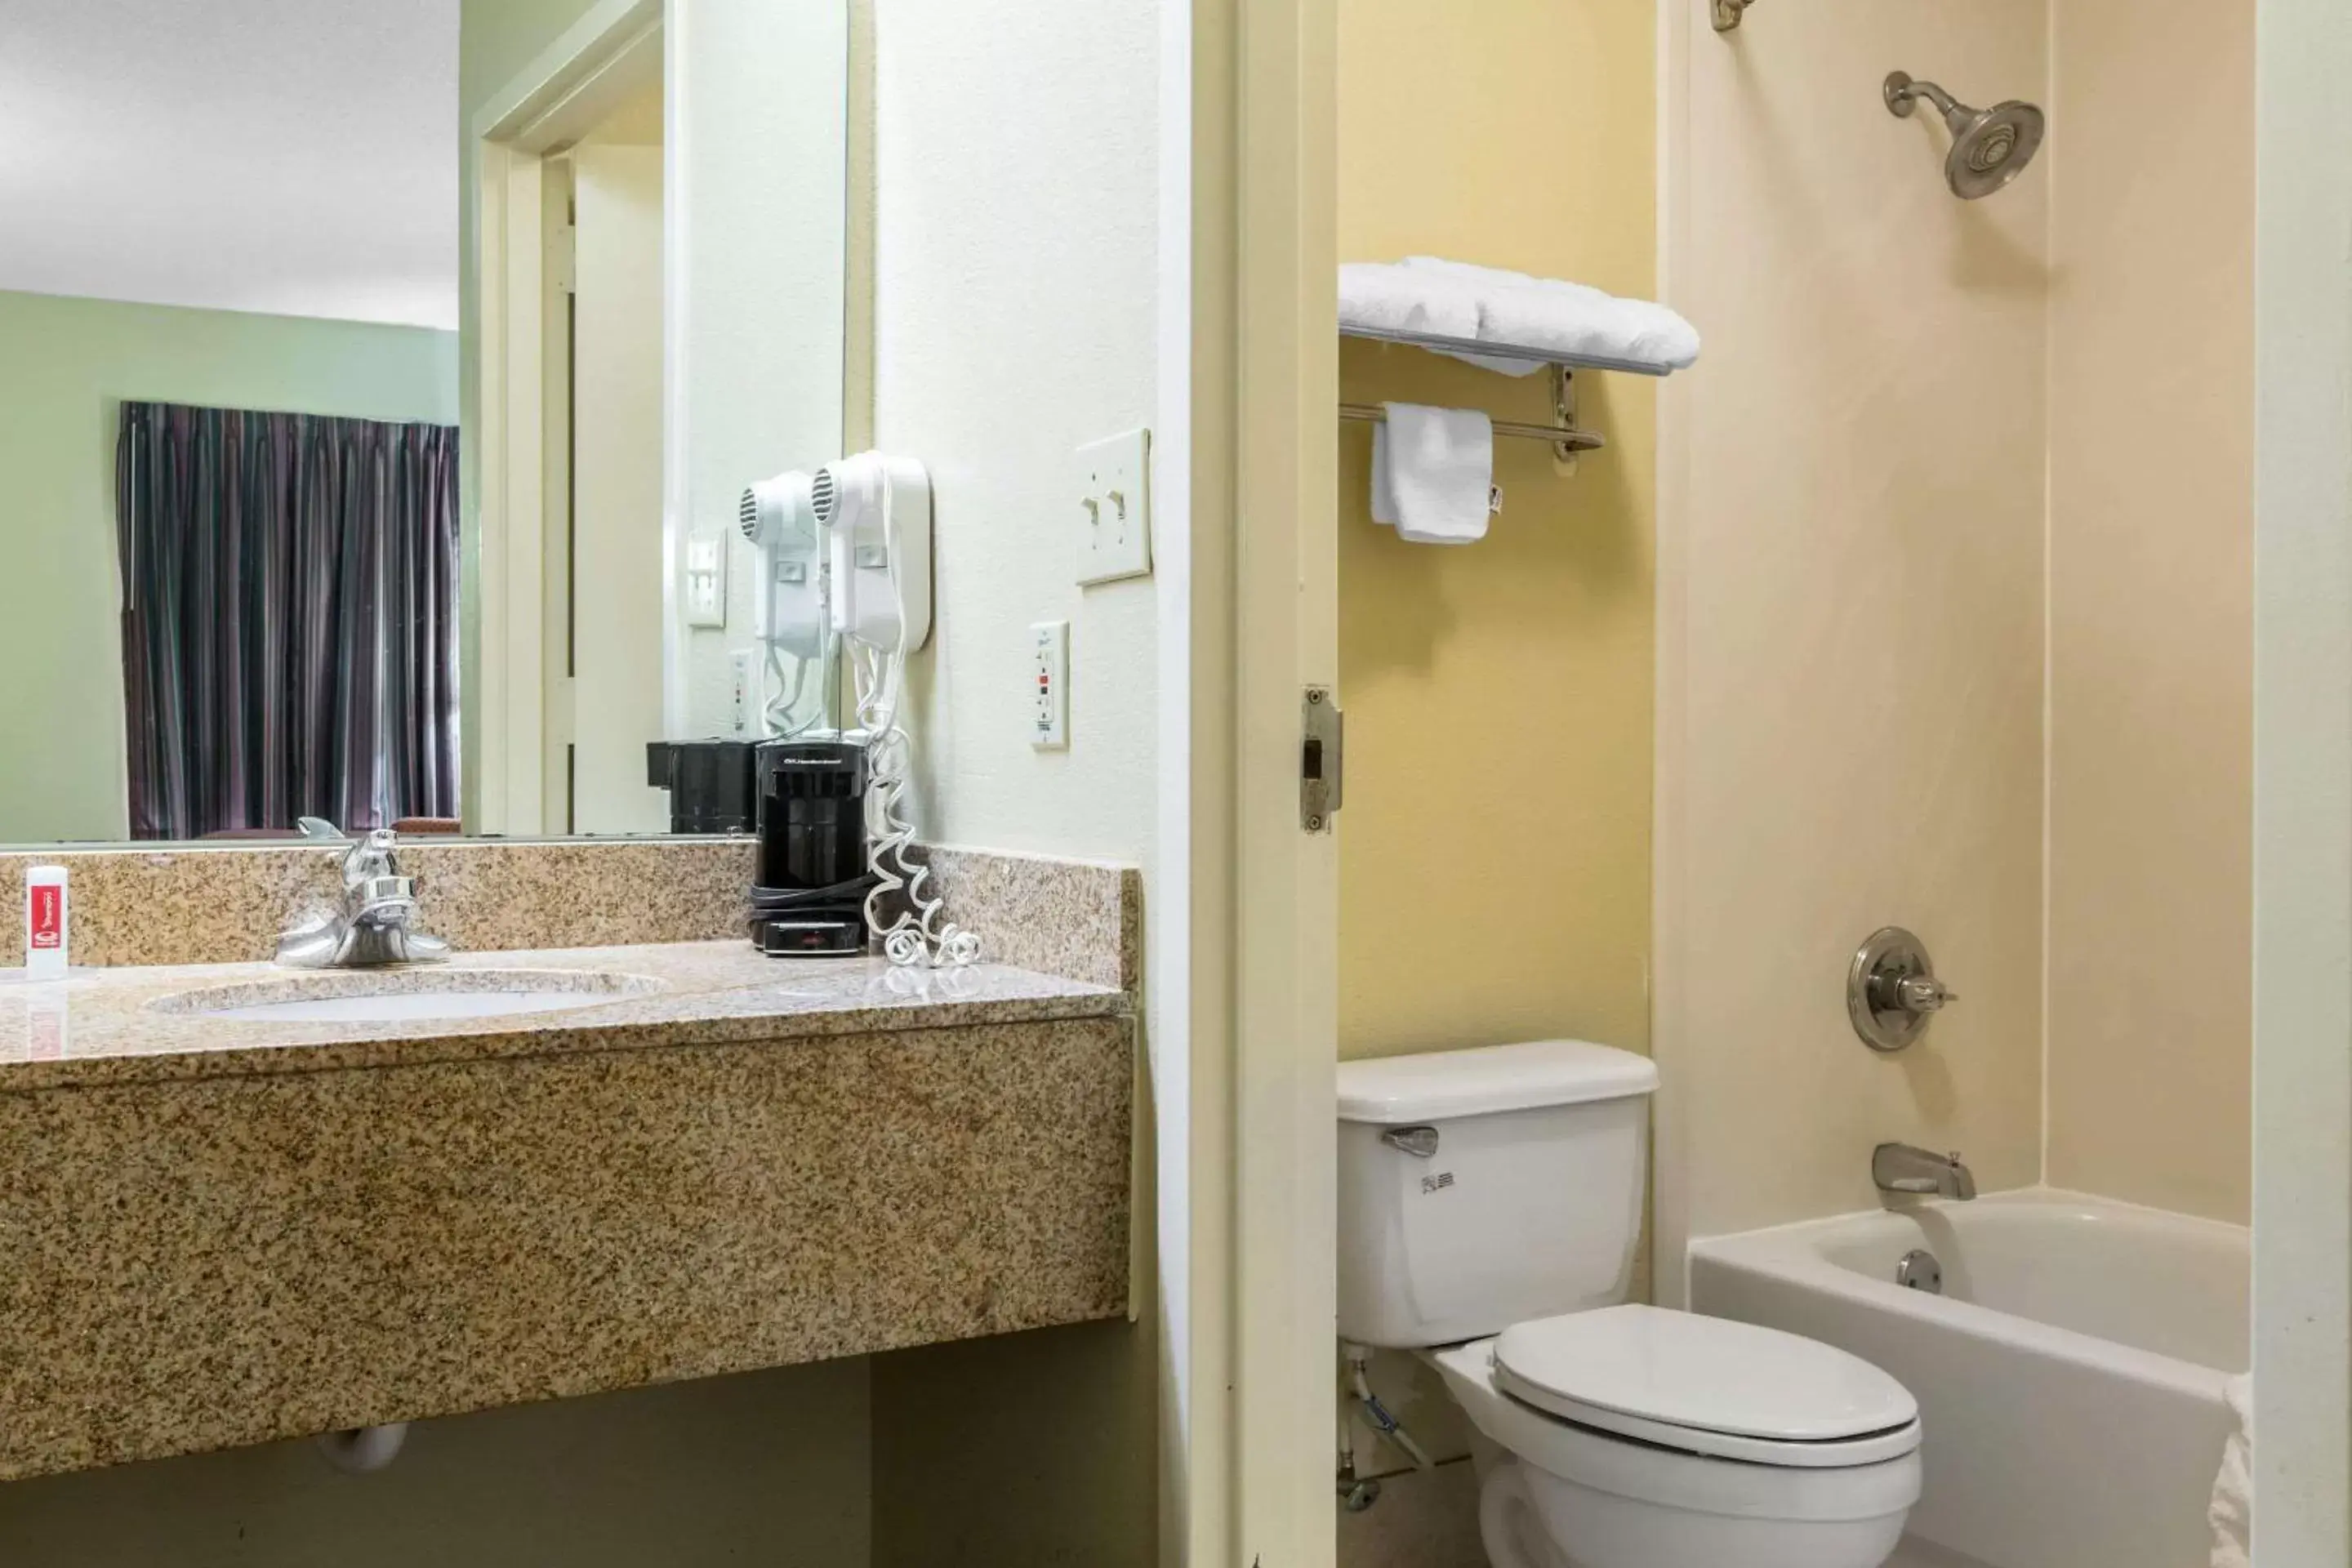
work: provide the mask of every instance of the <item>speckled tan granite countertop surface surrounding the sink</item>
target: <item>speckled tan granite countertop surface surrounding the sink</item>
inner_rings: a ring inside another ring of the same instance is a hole
[[[527,978],[475,985],[480,971]],[[191,992],[247,1001],[365,994],[381,976],[419,990],[569,990],[609,1001],[548,1013],[402,1023],[219,1018]],[[769,959],[743,940],[553,952],[468,952],[400,971],[294,971],[275,964],[82,969],[47,985],[0,980],[0,1093],[82,1084],[322,1072],[447,1060],[649,1051],[946,1030],[1054,1018],[1124,1018],[1124,990],[1025,969],[910,971],[884,959]]]

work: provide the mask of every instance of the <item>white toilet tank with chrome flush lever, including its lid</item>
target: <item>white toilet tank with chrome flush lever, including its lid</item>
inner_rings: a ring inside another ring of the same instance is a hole
[[[1338,1067],[1338,1333],[1397,1349],[1625,1300],[1658,1067],[1541,1039]]]

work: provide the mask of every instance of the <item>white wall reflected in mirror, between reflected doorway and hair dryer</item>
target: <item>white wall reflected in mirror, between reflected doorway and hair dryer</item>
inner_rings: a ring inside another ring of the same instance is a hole
[[[687,531],[729,550],[724,630],[677,632],[670,729],[717,736],[731,733],[729,654],[753,646],[743,487],[842,456],[849,5],[670,0],[666,63],[677,592]]]

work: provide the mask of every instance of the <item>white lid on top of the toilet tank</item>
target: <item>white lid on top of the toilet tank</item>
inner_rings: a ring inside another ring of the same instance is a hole
[[[1399,1126],[1543,1105],[1630,1100],[1658,1088],[1646,1056],[1585,1039],[1428,1051],[1338,1065],[1338,1119]]]

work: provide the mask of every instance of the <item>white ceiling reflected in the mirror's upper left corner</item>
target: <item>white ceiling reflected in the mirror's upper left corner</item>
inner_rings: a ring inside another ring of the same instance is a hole
[[[459,0],[0,0],[0,289],[456,329]]]

